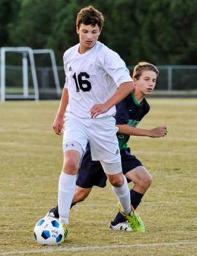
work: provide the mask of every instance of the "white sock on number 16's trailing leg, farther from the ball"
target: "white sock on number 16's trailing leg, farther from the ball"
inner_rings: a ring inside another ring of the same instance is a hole
[[[129,215],[131,212],[131,198],[126,177],[124,176],[124,184],[122,185],[122,187],[112,186],[112,190],[119,199],[121,211],[124,212],[126,215]]]

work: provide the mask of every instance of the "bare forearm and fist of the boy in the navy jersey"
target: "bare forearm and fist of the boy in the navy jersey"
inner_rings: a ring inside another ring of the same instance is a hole
[[[133,135],[133,136],[148,136],[151,138],[164,137],[167,134],[167,128],[165,126],[156,127],[154,129],[140,129],[132,127],[127,124],[116,125],[119,128],[119,133]]]

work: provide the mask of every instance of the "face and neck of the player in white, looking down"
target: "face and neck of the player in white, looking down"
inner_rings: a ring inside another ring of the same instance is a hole
[[[80,24],[80,28],[77,28],[77,33],[80,40],[80,53],[89,51],[97,42],[101,33],[99,26],[92,27],[91,25]]]

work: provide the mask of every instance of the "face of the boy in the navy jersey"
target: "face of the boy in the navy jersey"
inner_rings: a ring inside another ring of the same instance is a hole
[[[142,76],[137,80],[134,79],[136,90],[141,92],[143,95],[149,95],[156,86],[157,75],[152,70],[142,71]]]

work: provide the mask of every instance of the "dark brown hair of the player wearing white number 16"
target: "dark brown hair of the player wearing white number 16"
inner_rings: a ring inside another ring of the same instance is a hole
[[[92,27],[98,25],[99,31],[101,31],[103,22],[103,14],[91,5],[82,8],[77,15],[77,28],[80,28],[80,24],[91,25]]]

